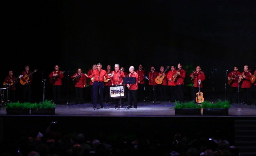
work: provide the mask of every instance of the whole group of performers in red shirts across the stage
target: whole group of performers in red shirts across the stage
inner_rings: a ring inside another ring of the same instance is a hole
[[[167,69],[171,70],[167,73]],[[62,79],[64,78],[64,71],[60,71],[60,67],[55,65],[54,71],[50,73],[49,81],[52,83],[53,88],[53,101],[56,104],[61,103],[61,86]],[[29,70],[29,65],[25,65],[25,71],[19,76],[20,83],[23,85],[23,97],[24,101],[31,102],[31,85],[33,82],[33,73]],[[231,93],[229,96],[230,103],[238,102],[238,87],[241,87],[243,93],[243,104],[251,104],[250,88],[252,77],[255,79],[256,70],[254,74],[248,70],[248,66],[244,66],[244,71],[239,72],[238,67],[234,66],[234,71],[231,71],[227,78],[228,84],[231,85]],[[125,84],[126,89],[129,89],[130,103],[129,105],[137,108],[137,101],[152,100],[154,101],[171,101],[175,100],[184,102],[184,79],[186,77],[186,71],[182,68],[182,64],[178,63],[177,68],[175,65],[168,66],[166,69],[161,66],[160,72],[156,72],[155,67],[151,67],[151,71],[146,75],[142,64],[139,65],[139,69],[135,71],[134,66],[130,66],[129,74],[125,72],[124,67],[120,67],[119,64],[114,65],[114,71],[111,70],[111,65],[107,66],[107,70],[102,69],[101,63],[93,64],[92,69],[88,73],[83,73],[81,68],[78,68],[77,72],[70,78],[75,82],[75,100],[76,103],[83,103],[83,88],[87,85],[87,78],[90,79],[90,93],[91,103],[93,108],[96,108],[97,101],[100,103],[100,108],[104,108],[103,102],[109,102],[109,87],[112,85],[122,85],[124,77],[135,77],[135,84]],[[201,71],[201,67],[197,66],[196,70],[190,73],[189,77],[194,82],[194,95],[198,92],[198,87],[203,89],[203,81],[205,80],[204,72]],[[5,78],[4,86],[9,90],[9,97],[11,101],[15,101],[15,90],[18,79],[13,75],[12,71],[9,71],[9,75]],[[145,94],[145,80],[148,80],[148,94]],[[159,83],[160,82],[160,83]],[[253,81],[254,82],[254,81]],[[256,93],[256,83],[254,83]],[[171,92],[169,95],[168,92]],[[159,94],[159,96],[157,96]],[[98,98],[99,97],[99,98]],[[256,97],[256,96],[255,96]],[[170,99],[169,99],[170,98]],[[195,98],[194,98],[195,99]],[[113,99],[112,102],[117,107],[119,99]],[[123,101],[121,101],[123,102]]]

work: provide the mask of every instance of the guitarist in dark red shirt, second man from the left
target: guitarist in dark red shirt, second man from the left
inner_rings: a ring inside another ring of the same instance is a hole
[[[32,96],[31,96],[31,90],[32,90],[32,82],[33,82],[33,75],[31,74],[31,71],[29,71],[29,65],[25,65],[25,71],[23,71],[21,74],[23,77],[21,78],[24,82],[26,82],[25,85],[23,85],[23,102],[28,101],[32,102]],[[31,75],[30,75],[31,74]],[[30,75],[29,80],[26,80],[24,77],[25,75]]]

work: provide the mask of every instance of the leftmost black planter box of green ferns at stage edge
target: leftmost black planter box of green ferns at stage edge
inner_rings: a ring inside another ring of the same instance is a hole
[[[29,106],[31,103],[20,103],[14,102],[5,105],[6,114],[10,115],[28,115],[29,114]]]

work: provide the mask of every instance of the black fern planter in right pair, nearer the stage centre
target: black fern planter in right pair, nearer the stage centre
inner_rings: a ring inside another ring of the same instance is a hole
[[[201,115],[201,105],[194,102],[175,102],[175,115]]]

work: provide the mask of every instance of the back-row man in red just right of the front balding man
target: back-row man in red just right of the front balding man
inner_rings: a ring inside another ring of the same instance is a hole
[[[144,100],[144,91],[145,91],[145,81],[144,81],[144,76],[146,75],[142,64],[139,65],[139,69],[136,71],[138,74],[138,92],[139,92],[139,101]]]

